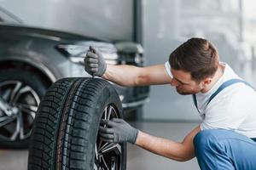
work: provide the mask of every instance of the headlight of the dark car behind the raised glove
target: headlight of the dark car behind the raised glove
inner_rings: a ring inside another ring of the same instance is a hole
[[[84,65],[84,57],[89,47],[98,48],[108,64],[116,65],[118,63],[118,54],[116,49],[104,42],[86,42],[83,44],[59,44],[56,49],[65,55],[73,63]],[[105,45],[105,46],[104,46]]]

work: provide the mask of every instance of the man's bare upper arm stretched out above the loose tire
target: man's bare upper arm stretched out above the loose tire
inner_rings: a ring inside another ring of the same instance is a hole
[[[121,86],[168,84],[172,78],[165,65],[136,67],[133,65],[107,65],[103,78]]]

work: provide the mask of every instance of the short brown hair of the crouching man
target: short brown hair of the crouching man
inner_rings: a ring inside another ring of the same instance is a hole
[[[190,72],[192,79],[212,77],[218,69],[218,51],[202,38],[190,38],[170,54],[172,69]]]

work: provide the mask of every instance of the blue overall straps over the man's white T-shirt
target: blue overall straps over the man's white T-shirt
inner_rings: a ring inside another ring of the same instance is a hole
[[[232,84],[235,84],[237,82],[242,82],[244,84],[246,84],[247,86],[253,88],[253,86],[251,86],[248,82],[244,81],[244,80],[241,80],[241,79],[230,79],[226,82],[224,82],[222,85],[220,85],[220,87],[218,87],[218,89],[216,90],[216,92],[214,92],[211,97],[209,98],[208,102],[207,102],[207,105],[212,101],[212,99],[219,93],[221,92],[224,88],[227,88],[229,87],[230,85]],[[253,88],[254,89],[254,88]],[[255,89],[254,89],[255,90]],[[193,101],[194,101],[194,104],[195,104],[195,107],[197,109],[197,111],[199,112],[198,110],[198,106],[197,106],[197,101],[196,101],[196,96],[195,94],[193,94]]]

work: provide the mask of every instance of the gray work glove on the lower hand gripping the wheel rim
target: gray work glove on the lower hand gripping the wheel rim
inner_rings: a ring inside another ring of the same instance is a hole
[[[130,142],[135,144],[138,130],[131,127],[123,119],[113,118],[111,121],[103,119],[101,124],[106,124],[108,127],[100,126],[100,139],[108,143]]]

